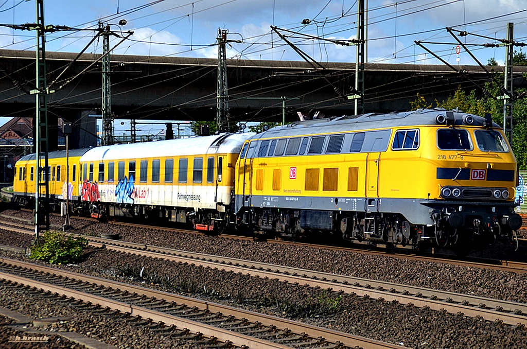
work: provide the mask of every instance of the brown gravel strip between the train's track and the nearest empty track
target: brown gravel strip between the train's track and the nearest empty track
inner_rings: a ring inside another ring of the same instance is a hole
[[[28,212],[16,213],[28,214]],[[80,220],[79,223],[79,220],[75,220],[73,224],[86,225],[86,221]],[[261,241],[174,233],[162,229],[133,228],[102,223],[90,224],[87,227],[89,234],[119,232],[122,240],[134,243],[527,303],[527,274],[389,256],[368,256],[349,251],[306,246],[277,245]],[[82,232],[86,234],[86,230],[82,229]],[[524,251],[524,260],[525,256],[527,256],[527,250]]]

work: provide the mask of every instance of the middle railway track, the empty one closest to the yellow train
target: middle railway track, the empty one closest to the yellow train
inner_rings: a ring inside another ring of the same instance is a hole
[[[14,228],[24,232],[23,229]],[[27,231],[27,230],[25,230]],[[226,270],[255,277],[278,279],[288,283],[298,283],[323,289],[359,296],[384,299],[387,302],[413,304],[418,307],[428,307],[436,311],[463,313],[466,316],[480,316],[488,321],[500,321],[510,325],[527,325],[527,305],[485,297],[470,296],[452,292],[444,292],[424,287],[401,285],[376,280],[349,277],[344,275],[313,272],[311,270],[257,263],[229,257],[219,257],[199,253],[190,253],[169,248],[128,243],[98,237],[85,236],[95,247],[105,247],[120,253],[130,253],[149,258],[162,258],[177,263],[188,263],[201,267]],[[474,266],[473,264],[471,266]],[[486,267],[485,265],[477,265]],[[505,270],[518,271],[518,266],[500,266]],[[527,272],[525,266],[520,272]]]

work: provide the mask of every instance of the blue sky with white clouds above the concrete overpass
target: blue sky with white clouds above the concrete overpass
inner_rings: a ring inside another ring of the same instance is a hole
[[[505,38],[506,23],[514,22],[514,36],[527,41],[527,4],[524,0],[403,0],[368,2],[368,62],[441,64],[414,40],[445,42],[427,44],[451,64],[457,64],[454,38],[445,27]],[[35,1],[0,1],[0,23],[35,22]],[[15,6],[15,7],[14,7]],[[12,8],[14,7],[14,8]],[[349,40],[356,37],[355,0],[44,0],[46,24],[93,29],[98,21],[114,31],[133,31],[131,40],[116,54],[217,57],[218,28],[229,30],[227,50],[232,59],[301,60],[271,25],[315,37]],[[519,12],[513,14],[515,12]],[[128,23],[118,26],[121,19]],[[310,23],[301,22],[308,19]],[[292,35],[292,34],[289,34]],[[93,36],[91,31],[59,32],[48,36],[48,51],[79,52]],[[319,62],[355,62],[355,47],[294,35],[289,40]],[[492,40],[466,36],[469,44]],[[116,42],[116,39],[113,40]],[[2,49],[34,50],[34,32],[0,27]],[[504,48],[471,46],[486,63],[490,57],[504,61]],[[87,52],[100,53],[95,41]],[[465,52],[461,64],[476,64]]]

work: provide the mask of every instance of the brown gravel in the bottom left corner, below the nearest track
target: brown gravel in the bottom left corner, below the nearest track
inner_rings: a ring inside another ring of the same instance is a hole
[[[55,322],[41,328],[45,331],[50,331],[50,338],[54,338],[54,342],[57,341],[56,338],[58,337],[53,335],[53,332],[77,332],[119,348],[201,349],[206,347],[200,344],[192,344],[188,343],[187,341],[180,341],[177,338],[171,337],[170,335],[165,335],[162,332],[152,331],[140,325],[129,324],[124,320],[124,318],[120,316],[110,316],[105,313],[95,313],[85,309],[81,310],[69,305],[68,303],[53,302],[53,300],[48,298],[32,295],[28,293],[26,289],[15,289],[4,284],[0,284],[0,304],[2,304],[2,306],[5,308],[9,308],[32,318],[67,318],[66,321]],[[2,326],[0,328],[3,330],[5,327]],[[4,344],[4,342],[1,341],[3,336],[3,333],[0,334],[0,347],[2,347]],[[47,343],[46,346],[33,345],[36,343],[29,343],[29,346],[18,346],[18,344],[19,343],[16,343],[16,348],[84,347],[73,343],[67,346],[47,346]]]

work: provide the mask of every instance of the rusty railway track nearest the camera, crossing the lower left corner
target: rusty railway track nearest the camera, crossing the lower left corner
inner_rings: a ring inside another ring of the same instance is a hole
[[[121,313],[162,322],[251,348],[403,348],[331,329],[112,280],[66,272],[13,259],[0,259],[4,282],[31,285]]]

